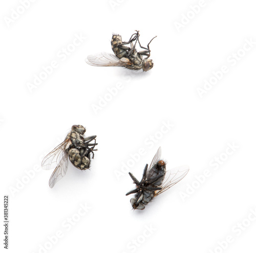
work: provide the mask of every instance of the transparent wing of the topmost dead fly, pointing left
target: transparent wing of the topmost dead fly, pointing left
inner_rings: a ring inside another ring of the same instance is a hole
[[[123,58],[124,60],[120,60],[118,57],[116,57],[113,54],[109,53],[99,53],[96,55],[89,55],[86,59],[86,62],[89,65],[92,66],[119,66],[119,67],[124,67],[125,65],[129,65],[130,61],[126,58]]]

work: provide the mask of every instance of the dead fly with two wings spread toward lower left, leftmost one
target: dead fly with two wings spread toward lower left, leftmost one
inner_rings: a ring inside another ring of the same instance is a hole
[[[79,170],[86,170],[90,167],[91,158],[94,158],[93,151],[96,145],[96,135],[84,137],[86,128],[81,125],[73,125],[65,141],[59,144],[43,160],[42,167],[49,170],[55,167],[49,186],[53,188],[55,183],[65,176],[68,169],[68,157],[70,162]],[[94,141],[94,143],[91,143]],[[92,157],[91,157],[92,153]]]

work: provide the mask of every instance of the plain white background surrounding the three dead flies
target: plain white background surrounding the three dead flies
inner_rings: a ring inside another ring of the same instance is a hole
[[[232,243],[216,252],[255,252],[256,221],[246,219],[256,208],[256,44],[243,51],[246,39],[256,41],[255,3],[205,0],[193,14],[190,6],[201,1],[113,2],[37,0],[12,22],[20,2],[1,3],[1,193],[9,195],[9,252],[212,252],[227,237]],[[175,22],[184,24],[188,12],[188,24],[177,29]],[[111,53],[112,33],[127,40],[134,30],[143,45],[158,36],[151,43],[151,71],[84,61]],[[87,38],[61,58],[80,34]],[[238,51],[244,56],[231,61]],[[28,83],[52,61],[58,67],[30,92]],[[228,73],[201,98],[198,87],[223,65]],[[117,83],[122,89],[95,112],[92,106]],[[168,121],[174,126],[161,136]],[[52,171],[40,169],[42,157],[73,124],[85,126],[86,136],[97,135],[98,151],[90,170],[70,164],[50,189]],[[158,137],[154,144],[151,135]],[[227,155],[229,144],[237,148]],[[159,146],[167,170],[187,164],[190,171],[144,211],[132,211],[127,172],[140,179]],[[144,155],[123,170],[139,149]],[[218,165],[220,156],[225,160]],[[200,183],[196,176],[205,170],[210,176]],[[91,209],[78,217],[81,204]],[[72,217],[79,221],[65,226]],[[247,225],[241,235],[238,222]],[[144,233],[146,226],[152,234]],[[49,244],[58,231],[63,236]]]

